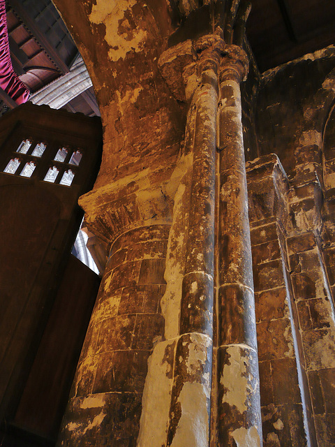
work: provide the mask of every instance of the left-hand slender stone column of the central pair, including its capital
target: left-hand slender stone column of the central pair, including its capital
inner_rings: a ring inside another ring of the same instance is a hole
[[[174,360],[167,446],[208,447],[214,308],[214,216],[217,69],[224,42],[216,35],[194,45],[198,59],[191,203]]]

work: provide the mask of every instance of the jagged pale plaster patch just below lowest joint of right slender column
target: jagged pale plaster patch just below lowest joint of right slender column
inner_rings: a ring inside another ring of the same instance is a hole
[[[249,379],[246,376],[246,362],[248,358],[241,357],[239,346],[230,346],[227,349],[230,365],[223,367],[220,383],[226,388],[222,402],[237,407],[240,413],[248,409],[246,401],[248,394],[253,392]]]

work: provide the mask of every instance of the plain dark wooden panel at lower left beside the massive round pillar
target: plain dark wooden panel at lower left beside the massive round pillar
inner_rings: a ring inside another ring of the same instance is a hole
[[[99,283],[94,272],[70,256],[15,425],[57,437]]]

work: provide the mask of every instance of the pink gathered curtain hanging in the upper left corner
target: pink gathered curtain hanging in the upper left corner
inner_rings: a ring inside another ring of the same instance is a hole
[[[0,87],[17,104],[29,99],[29,89],[18,78],[10,59],[5,0],[0,0]]]

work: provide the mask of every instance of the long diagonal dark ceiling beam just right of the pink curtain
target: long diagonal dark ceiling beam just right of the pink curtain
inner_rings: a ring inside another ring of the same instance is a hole
[[[31,31],[31,33],[36,37],[37,41],[44,48],[45,52],[50,56],[54,64],[59,68],[61,73],[65,74],[70,71],[66,63],[61,59],[57,50],[52,47],[50,42],[47,40],[47,36],[40,31],[36,22],[29,16],[27,10],[22,6],[20,0],[10,0],[10,6],[15,10],[15,13],[21,18],[22,22],[26,24],[27,28]]]

